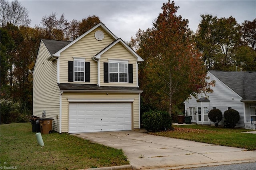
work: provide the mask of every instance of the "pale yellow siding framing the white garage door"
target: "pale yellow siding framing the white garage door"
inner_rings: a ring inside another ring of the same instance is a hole
[[[138,129],[139,94],[138,93],[63,93],[62,94],[62,132],[68,132],[68,98],[73,99],[134,99],[132,103],[132,129]]]

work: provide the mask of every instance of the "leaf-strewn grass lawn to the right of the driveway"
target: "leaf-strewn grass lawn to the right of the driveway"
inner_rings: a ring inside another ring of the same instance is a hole
[[[166,132],[150,132],[150,134],[222,146],[245,148],[247,150],[256,150],[256,134],[241,133],[255,130],[223,127],[216,128],[214,126],[205,125],[173,125],[173,127],[174,130]]]

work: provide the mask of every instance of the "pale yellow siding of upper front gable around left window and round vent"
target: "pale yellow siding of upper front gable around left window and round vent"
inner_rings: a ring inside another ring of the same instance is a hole
[[[104,32],[104,39],[102,41],[98,41],[94,37],[97,30]],[[73,61],[73,57],[81,57],[84,58],[86,62],[90,62],[90,83],[86,84],[97,84],[98,65],[96,61],[92,60],[92,57],[113,41],[114,39],[110,37],[107,32],[101,28],[96,28],[60,53],[60,83],[70,83],[68,82],[68,61]]]

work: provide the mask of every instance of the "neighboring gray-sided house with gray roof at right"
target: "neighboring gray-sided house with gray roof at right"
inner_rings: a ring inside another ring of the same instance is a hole
[[[211,109],[220,109],[223,114],[220,126],[224,125],[224,111],[235,109],[240,114],[236,127],[253,128],[256,123],[256,71],[208,71],[210,79],[215,81],[211,87],[213,93],[207,96],[199,94],[184,101],[186,115],[192,116],[192,122],[200,125],[214,125],[208,118]]]

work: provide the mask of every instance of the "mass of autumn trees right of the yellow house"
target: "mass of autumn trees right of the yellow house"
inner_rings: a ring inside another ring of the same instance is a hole
[[[190,95],[213,92],[208,70],[256,71],[256,19],[240,25],[232,16],[202,14],[194,33],[178,8],[168,0],[152,28],[139,29],[129,42],[145,60],[139,69],[141,112],[165,110],[173,119]]]

